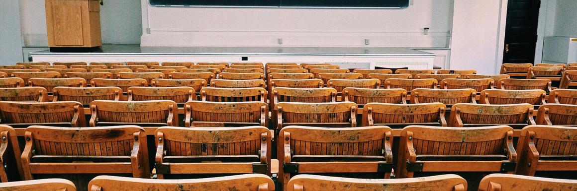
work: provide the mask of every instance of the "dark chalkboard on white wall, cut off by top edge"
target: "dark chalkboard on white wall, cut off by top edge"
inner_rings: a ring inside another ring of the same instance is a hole
[[[410,0],[150,0],[153,6],[406,8]]]

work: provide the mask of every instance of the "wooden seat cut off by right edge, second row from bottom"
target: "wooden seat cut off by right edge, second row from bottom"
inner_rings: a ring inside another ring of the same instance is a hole
[[[534,176],[536,171],[575,171],[575,137],[576,127],[530,125],[523,128],[517,143],[517,174]]]

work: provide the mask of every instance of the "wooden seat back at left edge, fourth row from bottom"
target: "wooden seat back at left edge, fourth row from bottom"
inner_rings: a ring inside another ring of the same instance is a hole
[[[44,102],[48,100],[48,91],[44,87],[8,87],[0,88],[1,101]]]

